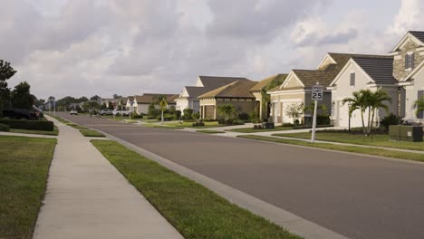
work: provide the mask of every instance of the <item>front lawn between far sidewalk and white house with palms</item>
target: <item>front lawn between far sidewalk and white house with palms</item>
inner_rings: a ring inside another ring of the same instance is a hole
[[[273,136],[278,137],[289,137],[289,138],[298,138],[298,139],[311,139],[310,132],[303,133],[289,133],[289,134],[273,134]],[[348,143],[348,144],[357,144],[357,145],[369,145],[369,146],[378,146],[385,148],[403,148],[410,150],[419,150],[424,151],[424,141],[423,142],[405,142],[405,141],[390,141],[389,135],[376,134],[372,137],[365,137],[361,134],[350,134],[347,132],[325,132],[325,131],[316,131],[315,132],[316,140],[338,142],[338,143]]]

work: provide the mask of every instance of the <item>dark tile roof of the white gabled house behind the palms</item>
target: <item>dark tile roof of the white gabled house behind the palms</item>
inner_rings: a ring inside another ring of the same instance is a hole
[[[353,61],[361,66],[377,84],[394,84],[398,81],[393,77],[393,57],[388,56],[354,56]]]

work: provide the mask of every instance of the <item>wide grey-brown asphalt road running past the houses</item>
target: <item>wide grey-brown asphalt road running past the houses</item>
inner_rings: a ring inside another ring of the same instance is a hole
[[[349,238],[424,238],[424,166],[60,116],[101,129]]]

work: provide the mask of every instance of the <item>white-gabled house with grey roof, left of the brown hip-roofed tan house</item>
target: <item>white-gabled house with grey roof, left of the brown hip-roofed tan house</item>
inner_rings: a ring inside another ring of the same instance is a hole
[[[186,86],[183,88],[178,98],[177,110],[181,110],[184,114],[185,109],[192,109],[194,113],[198,113],[200,110],[200,101],[198,96],[213,91],[219,87],[225,86],[234,81],[250,81],[246,78],[239,77],[217,77],[217,76],[198,76],[195,86]]]

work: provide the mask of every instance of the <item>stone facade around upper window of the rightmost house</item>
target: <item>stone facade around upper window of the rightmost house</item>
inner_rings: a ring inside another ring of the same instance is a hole
[[[394,56],[393,60],[393,76],[401,81],[406,76],[410,74],[410,70],[405,69],[405,56],[407,53],[414,53],[414,66],[419,65],[420,62],[424,60],[424,54],[421,54],[417,51],[417,48],[422,47],[417,43],[414,43],[412,40],[409,40],[408,43],[405,43],[402,48],[399,49],[398,54]]]

